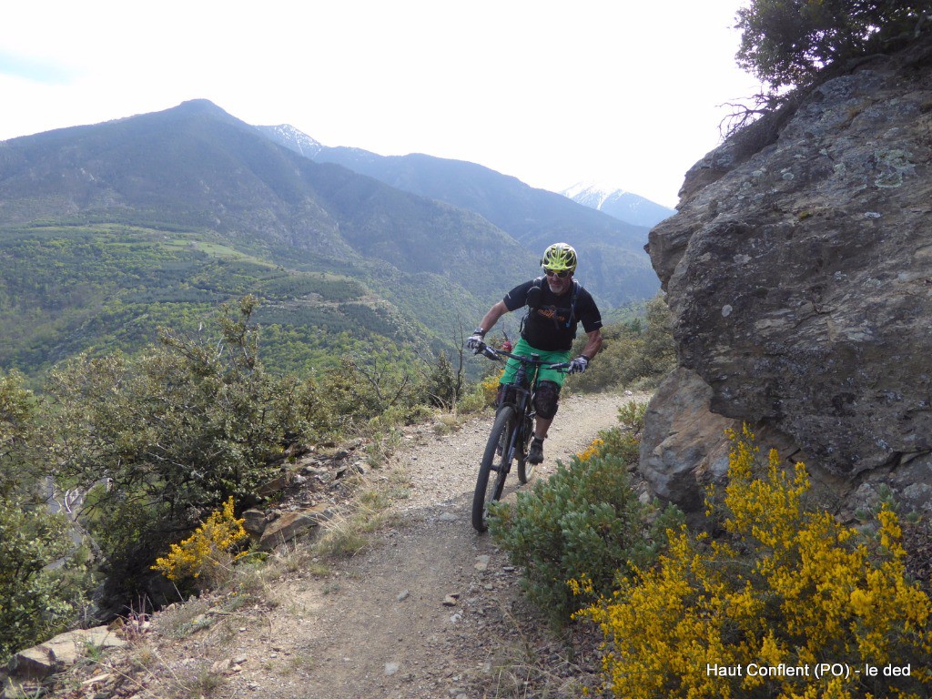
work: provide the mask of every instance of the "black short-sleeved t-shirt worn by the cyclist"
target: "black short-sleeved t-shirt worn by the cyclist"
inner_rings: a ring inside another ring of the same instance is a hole
[[[528,308],[528,315],[521,330],[521,336],[531,347],[544,351],[571,349],[579,322],[583,322],[583,330],[586,333],[602,327],[602,316],[596,307],[596,300],[577,281],[573,281],[573,286],[561,295],[555,295],[550,291],[550,286],[543,278],[526,281],[505,295],[502,299],[505,307],[517,310],[527,306],[528,292],[539,282],[541,295],[535,308]],[[574,289],[576,306],[572,308]]]

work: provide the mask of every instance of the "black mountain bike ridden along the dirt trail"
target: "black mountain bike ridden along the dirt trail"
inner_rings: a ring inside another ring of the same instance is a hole
[[[477,353],[498,362],[504,362],[504,357],[520,362],[514,380],[502,385],[495,422],[489,432],[486,451],[475,481],[473,528],[481,532],[488,528],[488,505],[500,499],[512,464],[517,466],[518,482],[521,485],[528,483],[534,470],[534,464],[528,463],[528,447],[534,436],[534,393],[537,391],[541,368],[566,371],[569,363],[543,363],[538,354],[526,357],[495,349],[485,343],[480,345]]]

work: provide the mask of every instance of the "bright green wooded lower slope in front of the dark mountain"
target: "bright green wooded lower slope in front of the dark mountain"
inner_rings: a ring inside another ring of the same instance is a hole
[[[35,373],[75,353],[132,352],[159,326],[197,327],[254,294],[267,361],[333,365],[329,355],[386,338],[428,342],[426,328],[360,281],[285,269],[212,235],[129,225],[11,227],[0,257],[0,366]]]

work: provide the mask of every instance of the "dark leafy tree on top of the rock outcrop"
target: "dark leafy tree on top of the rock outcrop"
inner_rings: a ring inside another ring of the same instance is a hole
[[[738,10],[738,65],[783,89],[825,67],[897,48],[932,26],[932,0],[750,0]]]

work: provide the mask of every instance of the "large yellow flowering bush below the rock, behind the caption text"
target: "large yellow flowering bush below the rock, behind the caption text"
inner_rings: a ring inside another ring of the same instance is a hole
[[[610,690],[626,699],[928,696],[932,604],[906,579],[897,515],[884,506],[870,540],[804,506],[802,464],[784,473],[771,451],[757,478],[753,434],[730,437],[726,535],[670,531],[657,566],[581,613],[607,638]]]

